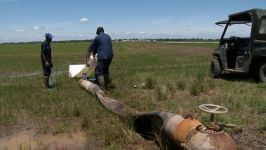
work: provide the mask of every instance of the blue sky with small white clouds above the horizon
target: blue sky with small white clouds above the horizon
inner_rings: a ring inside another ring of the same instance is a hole
[[[93,39],[219,38],[214,23],[231,13],[266,9],[266,0],[0,0],[0,43]]]

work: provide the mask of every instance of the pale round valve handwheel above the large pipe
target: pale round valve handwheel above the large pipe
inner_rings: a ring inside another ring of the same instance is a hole
[[[228,112],[226,107],[215,104],[201,104],[199,109],[212,114],[224,114]]]

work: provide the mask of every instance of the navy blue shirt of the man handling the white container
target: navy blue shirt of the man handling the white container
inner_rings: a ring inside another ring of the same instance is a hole
[[[113,58],[113,48],[111,37],[104,32],[99,33],[90,46],[90,51],[98,54],[98,60],[110,60]]]

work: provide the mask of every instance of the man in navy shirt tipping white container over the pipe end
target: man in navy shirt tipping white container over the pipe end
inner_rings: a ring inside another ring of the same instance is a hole
[[[113,59],[112,39],[104,33],[103,27],[98,27],[97,36],[89,47],[89,53],[93,52],[93,56],[97,54],[97,66],[95,68],[95,78],[97,83],[103,90],[109,80],[109,66]]]

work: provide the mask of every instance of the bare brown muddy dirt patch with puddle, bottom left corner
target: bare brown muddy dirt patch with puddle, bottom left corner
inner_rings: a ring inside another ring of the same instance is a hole
[[[42,134],[38,123],[27,112],[20,110],[17,125],[0,126],[0,149],[86,149],[88,135],[80,128],[67,133],[46,132]],[[77,120],[68,120],[76,122]],[[49,120],[48,128],[54,128],[60,120]],[[53,122],[53,123],[52,123]]]

